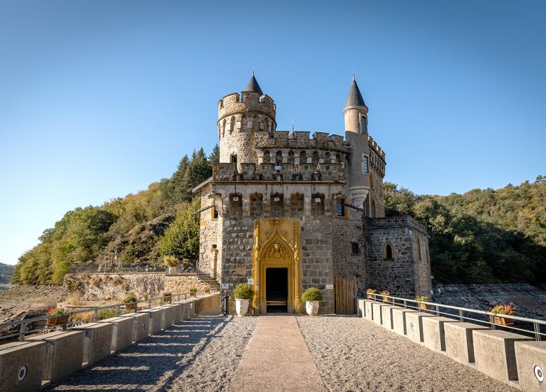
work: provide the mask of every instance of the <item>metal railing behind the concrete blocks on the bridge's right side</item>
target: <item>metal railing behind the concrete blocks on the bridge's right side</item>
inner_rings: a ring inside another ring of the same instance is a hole
[[[490,311],[468,309],[465,307],[438,304],[436,302],[409,300],[407,298],[393,297],[392,295],[362,293],[360,290],[357,292],[357,295],[358,294],[364,294],[368,299],[379,300],[381,302],[391,303],[393,305],[402,305],[407,309],[428,311],[436,314],[437,316],[456,318],[459,321],[474,321],[475,323],[482,323],[484,325],[488,325],[492,330],[501,327],[506,328],[507,330],[523,332],[526,335],[533,336],[535,340],[538,341],[544,340],[546,337],[546,320],[510,316],[509,314],[493,314]],[[505,319],[508,325],[496,323],[496,318]],[[545,332],[542,332],[541,327]]]

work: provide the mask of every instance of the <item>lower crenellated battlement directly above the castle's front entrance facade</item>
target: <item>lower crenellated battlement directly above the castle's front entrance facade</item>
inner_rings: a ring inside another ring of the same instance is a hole
[[[215,163],[212,181],[321,181],[344,183],[346,181],[343,163],[241,163],[241,170],[235,163]]]

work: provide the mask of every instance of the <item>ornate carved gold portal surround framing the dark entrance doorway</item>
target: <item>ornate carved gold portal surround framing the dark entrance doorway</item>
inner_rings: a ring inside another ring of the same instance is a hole
[[[288,270],[288,313],[301,313],[300,222],[296,219],[260,219],[254,223],[255,313],[267,313],[266,271]]]

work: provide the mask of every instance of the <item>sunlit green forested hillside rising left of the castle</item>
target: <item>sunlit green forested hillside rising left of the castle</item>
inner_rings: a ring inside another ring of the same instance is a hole
[[[13,283],[62,283],[73,262],[157,260],[169,254],[197,258],[199,216],[191,213],[200,204],[193,201],[192,188],[212,175],[211,163],[219,158],[218,146],[208,158],[201,148],[183,157],[170,179],[147,190],[67,212],[19,258]]]

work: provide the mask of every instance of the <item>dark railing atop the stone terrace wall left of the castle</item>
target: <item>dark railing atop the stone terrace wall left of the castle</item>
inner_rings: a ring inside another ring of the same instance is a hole
[[[180,262],[177,267],[169,270],[162,262],[76,262],[70,265],[69,274],[116,274],[116,273],[168,273],[172,271],[176,274],[195,274],[197,272],[197,260],[189,262]]]

